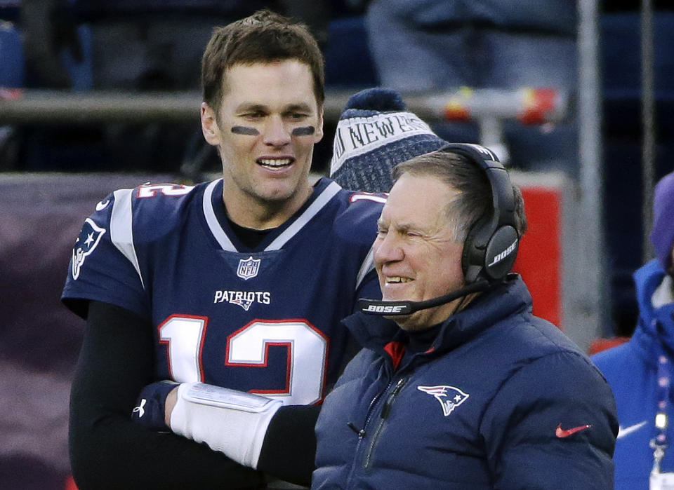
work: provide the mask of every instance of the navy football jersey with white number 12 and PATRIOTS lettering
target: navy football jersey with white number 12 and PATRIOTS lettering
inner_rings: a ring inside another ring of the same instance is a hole
[[[221,179],[114,191],[84,222],[62,299],[83,316],[96,300],[147,318],[157,379],[320,402],[348,341],[340,320],[381,297],[371,245],[385,196],[320,179],[249,250],[222,192]]]

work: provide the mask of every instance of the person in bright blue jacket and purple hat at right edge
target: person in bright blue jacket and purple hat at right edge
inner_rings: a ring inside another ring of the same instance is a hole
[[[674,172],[655,187],[651,240],[656,258],[634,273],[635,332],[593,357],[618,407],[616,490],[674,488]]]

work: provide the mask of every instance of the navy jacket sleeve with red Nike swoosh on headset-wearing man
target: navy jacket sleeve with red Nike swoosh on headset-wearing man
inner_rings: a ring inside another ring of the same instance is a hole
[[[611,390],[579,354],[521,367],[485,411],[481,433],[500,489],[613,489],[618,429]]]

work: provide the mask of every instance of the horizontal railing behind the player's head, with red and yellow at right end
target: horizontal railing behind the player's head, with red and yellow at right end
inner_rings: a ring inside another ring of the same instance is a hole
[[[325,118],[337,121],[355,90],[328,90]],[[516,90],[458,88],[447,92],[403,94],[409,110],[427,121],[520,118],[524,123],[559,121],[568,97],[546,88]],[[71,93],[60,90],[0,90],[0,123],[185,122],[199,116],[201,93]]]

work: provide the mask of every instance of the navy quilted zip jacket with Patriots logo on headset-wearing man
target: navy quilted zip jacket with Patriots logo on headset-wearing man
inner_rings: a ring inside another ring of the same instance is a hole
[[[364,349],[324,402],[312,488],[612,488],[611,390],[516,277],[424,353],[390,320],[345,320]]]

